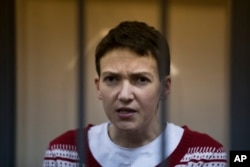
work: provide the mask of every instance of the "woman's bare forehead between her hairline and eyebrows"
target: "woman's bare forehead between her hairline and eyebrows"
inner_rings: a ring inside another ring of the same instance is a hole
[[[138,55],[124,48],[107,52],[100,61],[101,73],[110,72],[150,72],[158,75],[157,63],[151,55]]]

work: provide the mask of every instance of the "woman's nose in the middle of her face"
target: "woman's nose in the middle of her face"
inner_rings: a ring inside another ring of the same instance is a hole
[[[118,100],[123,103],[131,102],[134,99],[132,85],[128,81],[124,81],[118,94]]]

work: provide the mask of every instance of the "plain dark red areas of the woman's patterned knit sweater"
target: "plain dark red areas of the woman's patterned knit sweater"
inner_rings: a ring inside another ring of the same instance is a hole
[[[85,129],[84,129],[84,134],[85,134],[85,141],[87,141],[88,137],[87,137],[87,131],[90,129],[90,127],[92,127],[93,125],[88,125]],[[179,145],[177,146],[177,148],[175,149],[175,151],[165,160],[165,162],[167,162],[167,164],[169,166],[176,166],[177,164],[187,164],[187,162],[180,162],[181,159],[187,154],[187,153],[191,153],[192,151],[194,152],[204,152],[205,148],[213,148],[213,152],[220,152],[223,151],[222,150],[222,145],[220,143],[218,143],[217,141],[215,141],[214,139],[212,139],[210,136],[206,135],[206,134],[202,134],[199,132],[195,132],[195,131],[191,131],[190,129],[188,129],[186,126],[183,127],[184,128],[184,134],[183,137],[179,143]],[[59,137],[57,137],[56,139],[54,139],[53,141],[50,142],[49,148],[48,149],[53,149],[53,146],[58,146],[58,145],[64,145],[64,146],[68,146],[65,149],[72,149],[72,151],[74,151],[74,149],[76,149],[76,140],[77,140],[77,130],[71,130],[71,131],[67,131],[66,133],[60,135]],[[70,146],[74,146],[74,147],[70,147]],[[88,167],[101,167],[101,165],[95,160],[94,156],[92,155],[88,143],[85,143],[85,147],[86,147],[86,154],[87,154],[87,158],[85,164]],[[190,150],[191,148],[200,148],[200,150]],[[76,150],[75,150],[76,151]],[[60,156],[55,156],[55,157],[45,157],[44,160],[65,160],[65,161],[72,161],[72,159],[63,159]],[[197,159],[193,158],[190,159],[189,161],[193,161],[196,162]],[[215,162],[226,162],[226,158],[225,159],[201,159],[198,161],[202,161],[202,162],[209,162],[209,161],[215,161]],[[77,159],[75,160],[75,162],[77,162]],[[157,165],[156,167],[160,167],[161,164]],[[44,165],[44,166],[48,166],[48,165]],[[50,165],[49,165],[50,167]]]

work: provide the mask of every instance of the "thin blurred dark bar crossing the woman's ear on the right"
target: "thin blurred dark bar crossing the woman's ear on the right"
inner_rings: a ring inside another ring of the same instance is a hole
[[[164,35],[164,37],[166,37],[166,29],[167,29],[167,24],[166,24],[166,19],[167,19],[167,0],[160,0],[160,28],[161,28],[161,32]],[[162,44],[161,41],[160,42],[160,46],[161,46],[161,60],[160,60],[160,76],[164,77],[163,74],[166,74],[166,70],[167,70],[167,66],[165,63],[165,55],[167,53],[165,53],[166,49],[164,49],[166,46],[164,46],[164,44]],[[161,125],[163,126],[162,129],[165,129],[165,123],[166,123],[166,116],[167,116],[167,109],[168,109],[168,105],[167,105],[167,100],[163,99],[161,102],[161,107],[160,107],[161,111],[160,111],[160,116],[161,116]],[[163,162],[161,163],[160,166],[162,167],[166,167],[167,161],[165,161],[165,154],[166,154],[166,141],[165,141],[165,133],[162,133],[162,140],[161,140],[161,159],[163,160]]]

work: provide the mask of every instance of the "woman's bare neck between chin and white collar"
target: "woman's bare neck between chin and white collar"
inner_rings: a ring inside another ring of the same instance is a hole
[[[157,138],[164,127],[160,122],[155,122],[153,126],[143,127],[141,130],[122,131],[116,128],[113,124],[109,126],[109,137],[119,146],[126,148],[136,148],[146,145]]]

